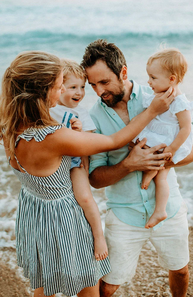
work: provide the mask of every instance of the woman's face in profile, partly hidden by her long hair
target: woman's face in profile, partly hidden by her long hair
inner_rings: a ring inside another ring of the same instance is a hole
[[[48,98],[50,100],[50,107],[56,106],[61,93],[64,93],[65,91],[66,91],[66,89],[63,85],[63,72],[61,71],[61,74],[56,79],[55,85],[48,92]]]

